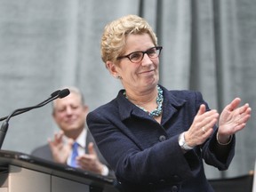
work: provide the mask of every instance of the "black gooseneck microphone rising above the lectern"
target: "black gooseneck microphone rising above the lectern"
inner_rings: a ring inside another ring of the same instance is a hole
[[[20,115],[20,114],[25,113],[34,108],[41,108],[44,105],[46,105],[47,103],[51,102],[52,100],[56,100],[58,98],[62,99],[64,97],[68,96],[69,93],[70,92],[68,89],[63,89],[61,91],[57,90],[55,92],[52,92],[51,96],[47,100],[44,100],[43,102],[40,102],[35,106],[31,106],[28,108],[18,108],[18,109],[15,109],[14,111],[12,111],[12,113],[9,116],[2,117],[0,119],[0,121],[3,121],[4,119],[6,119],[6,120],[4,121],[4,123],[2,124],[1,129],[0,129],[0,149],[2,148],[5,134],[8,131],[8,127],[9,127],[8,122],[10,121],[12,116]]]

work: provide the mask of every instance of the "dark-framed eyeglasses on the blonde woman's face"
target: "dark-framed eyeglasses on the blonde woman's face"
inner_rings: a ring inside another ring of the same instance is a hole
[[[143,60],[145,53],[147,53],[150,59],[155,59],[159,57],[162,49],[163,49],[162,46],[151,47],[145,52],[131,52],[130,54],[117,57],[116,60],[122,60],[124,58],[128,58],[129,60],[131,60],[131,62],[138,63],[141,60]]]

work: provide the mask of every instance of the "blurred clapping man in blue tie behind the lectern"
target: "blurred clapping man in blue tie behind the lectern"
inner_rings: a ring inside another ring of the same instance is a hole
[[[67,97],[52,103],[52,117],[60,132],[44,146],[34,149],[31,155],[103,176],[114,176],[86,128],[88,106],[83,94],[76,87],[68,89],[70,94]]]

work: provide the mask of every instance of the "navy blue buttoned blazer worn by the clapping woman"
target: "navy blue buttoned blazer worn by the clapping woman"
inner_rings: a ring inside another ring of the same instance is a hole
[[[217,127],[204,145],[183,154],[178,143],[180,133],[188,130],[201,104],[209,107],[200,92],[161,87],[161,124],[127,100],[121,90],[116,99],[88,114],[86,121],[92,136],[114,169],[122,191],[211,192],[203,159],[219,170],[228,169],[235,155],[235,137],[224,158],[212,152]]]

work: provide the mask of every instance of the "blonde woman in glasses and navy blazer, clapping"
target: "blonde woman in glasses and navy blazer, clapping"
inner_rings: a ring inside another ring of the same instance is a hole
[[[213,191],[203,159],[228,169],[234,134],[251,108],[238,107],[236,98],[219,116],[200,92],[166,90],[158,84],[161,51],[148,22],[136,15],[106,26],[101,57],[124,90],[87,116],[88,127],[122,191]]]

